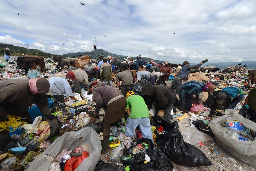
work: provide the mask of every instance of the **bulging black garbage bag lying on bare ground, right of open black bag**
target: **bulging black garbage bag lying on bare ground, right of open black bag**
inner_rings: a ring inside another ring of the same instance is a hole
[[[153,116],[152,119],[168,132],[158,135],[155,142],[169,159],[187,167],[213,165],[201,150],[183,141],[177,121],[171,123],[159,116]]]

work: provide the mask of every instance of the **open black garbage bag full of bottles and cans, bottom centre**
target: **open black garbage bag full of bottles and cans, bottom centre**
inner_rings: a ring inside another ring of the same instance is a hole
[[[132,150],[142,142],[146,142],[149,145],[147,150],[142,150],[140,153],[133,154],[133,158],[131,159],[122,160],[125,165],[129,165],[131,171],[170,171],[173,169],[171,161],[150,139],[137,139],[123,155],[131,154]],[[145,154],[151,159],[146,164],[144,164]]]

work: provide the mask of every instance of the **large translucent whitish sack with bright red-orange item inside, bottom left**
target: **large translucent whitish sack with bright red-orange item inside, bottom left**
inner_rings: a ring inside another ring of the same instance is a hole
[[[30,162],[25,171],[48,171],[53,159],[64,149],[75,150],[82,147],[90,155],[77,168],[76,171],[93,171],[100,159],[101,143],[97,132],[86,127],[77,132],[66,132],[54,141],[40,156]]]

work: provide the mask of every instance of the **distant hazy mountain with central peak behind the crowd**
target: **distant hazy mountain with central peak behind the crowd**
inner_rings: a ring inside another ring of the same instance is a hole
[[[105,57],[107,57],[108,55],[110,55],[111,57],[115,57],[117,59],[124,59],[126,58],[127,56],[123,56],[123,55],[117,55],[115,53],[110,53],[108,51],[105,51],[103,49],[98,49],[98,50],[94,50],[94,51],[91,51],[91,52],[76,52],[76,53],[67,53],[67,54],[64,54],[63,56],[64,57],[77,57],[79,55],[91,55],[91,58],[98,58],[98,55],[101,54],[101,55],[104,55]],[[133,58],[135,59],[135,58]],[[150,61],[152,58],[141,58],[141,59],[145,59],[146,61]],[[164,62],[164,61],[159,61],[159,60],[155,60],[153,59],[156,63],[161,63],[161,62]]]

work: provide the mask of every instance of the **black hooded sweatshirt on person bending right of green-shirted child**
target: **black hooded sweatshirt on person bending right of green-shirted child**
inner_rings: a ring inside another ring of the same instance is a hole
[[[155,102],[155,107],[159,109],[166,109],[175,100],[173,93],[165,86],[151,85],[149,82],[142,87],[142,96],[150,96],[149,106]]]

